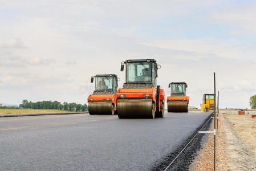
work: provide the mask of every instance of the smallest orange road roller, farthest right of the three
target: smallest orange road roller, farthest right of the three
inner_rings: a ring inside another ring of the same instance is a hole
[[[188,112],[189,97],[186,96],[187,87],[188,85],[185,82],[172,82],[169,84],[168,112]]]

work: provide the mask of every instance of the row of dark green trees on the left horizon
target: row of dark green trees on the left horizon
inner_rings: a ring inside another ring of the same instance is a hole
[[[22,100],[22,103],[19,105],[19,108],[23,109],[59,109],[64,111],[76,111],[84,112],[87,111],[87,104],[76,104],[76,103],[67,103],[63,104],[59,101],[37,101],[32,102],[28,100]]]

